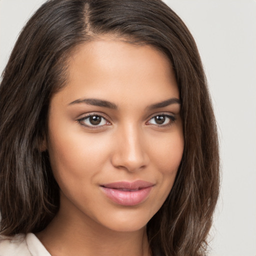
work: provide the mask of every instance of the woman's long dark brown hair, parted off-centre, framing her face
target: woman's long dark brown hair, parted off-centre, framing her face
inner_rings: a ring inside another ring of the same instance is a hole
[[[181,98],[184,152],[147,234],[155,254],[204,255],[219,191],[216,124],[195,42],[160,0],[48,0],[28,20],[0,84],[0,232],[38,232],[57,212],[59,188],[47,152],[39,150],[48,103],[65,85],[72,50],[106,33],[152,45],[170,59]]]

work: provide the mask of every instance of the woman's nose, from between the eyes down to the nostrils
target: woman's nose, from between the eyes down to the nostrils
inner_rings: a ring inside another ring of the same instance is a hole
[[[149,157],[145,150],[142,133],[142,130],[135,125],[119,128],[114,137],[114,150],[111,157],[113,166],[134,172],[148,165]]]

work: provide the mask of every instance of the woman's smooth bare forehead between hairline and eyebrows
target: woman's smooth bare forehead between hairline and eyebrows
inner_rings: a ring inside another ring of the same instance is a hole
[[[169,59],[150,45],[99,38],[75,49],[67,72],[59,93],[70,102],[81,97],[154,102],[179,96]]]

